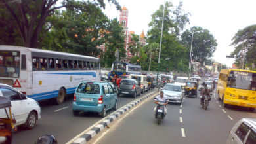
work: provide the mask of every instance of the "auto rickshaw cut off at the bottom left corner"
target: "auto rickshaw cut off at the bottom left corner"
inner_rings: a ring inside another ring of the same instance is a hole
[[[12,143],[12,133],[16,131],[15,118],[11,113],[11,101],[0,96],[0,111],[5,111],[6,117],[0,117],[0,143]]]

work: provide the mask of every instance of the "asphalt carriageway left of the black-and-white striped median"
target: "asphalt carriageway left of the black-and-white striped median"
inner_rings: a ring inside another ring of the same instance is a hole
[[[144,94],[137,96],[137,98],[142,96]],[[118,97],[117,107],[123,107],[134,100],[132,96],[121,95]],[[41,119],[37,121],[32,130],[18,127],[18,132],[13,135],[12,143],[35,143],[37,138],[44,134],[52,134],[57,138],[58,143],[66,143],[101,119],[96,113],[81,113],[79,116],[73,116],[72,102],[72,95],[65,99],[62,105],[53,105],[49,100],[40,101]],[[112,112],[107,111],[107,115]]]

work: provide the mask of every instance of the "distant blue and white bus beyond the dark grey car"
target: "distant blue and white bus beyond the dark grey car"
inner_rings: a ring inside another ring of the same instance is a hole
[[[113,62],[111,67],[111,77],[114,75],[130,75],[130,74],[137,74],[141,75],[141,66],[134,65],[131,63],[124,63],[124,62]]]

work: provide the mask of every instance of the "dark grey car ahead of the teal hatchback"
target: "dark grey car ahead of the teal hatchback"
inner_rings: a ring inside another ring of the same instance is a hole
[[[136,96],[140,95],[138,82],[135,79],[121,79],[117,96],[120,94],[132,95],[133,98],[136,98]]]

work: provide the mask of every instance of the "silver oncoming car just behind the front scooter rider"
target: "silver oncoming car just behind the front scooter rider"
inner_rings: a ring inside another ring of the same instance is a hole
[[[163,94],[168,97],[171,103],[182,103],[183,93],[180,84],[165,84],[163,87]]]

